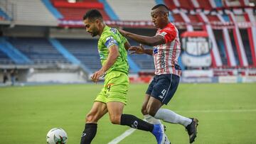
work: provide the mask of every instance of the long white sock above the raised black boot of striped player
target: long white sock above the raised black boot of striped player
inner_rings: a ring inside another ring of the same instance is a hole
[[[167,123],[179,123],[185,127],[192,122],[191,118],[178,115],[169,109],[159,109],[159,111],[156,112],[154,118],[161,119]]]

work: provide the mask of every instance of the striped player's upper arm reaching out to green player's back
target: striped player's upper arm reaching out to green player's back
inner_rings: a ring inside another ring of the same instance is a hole
[[[161,45],[166,43],[164,40],[164,37],[161,35],[155,35],[153,37],[149,37],[149,36],[137,35],[135,33],[129,33],[122,29],[119,29],[118,31],[119,33],[124,35],[126,38],[132,38],[133,40],[137,41],[138,43],[142,43],[143,45],[156,46],[156,45]]]

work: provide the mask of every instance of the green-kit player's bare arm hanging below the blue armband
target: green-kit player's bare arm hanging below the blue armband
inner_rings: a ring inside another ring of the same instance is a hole
[[[100,77],[104,75],[105,72],[107,72],[107,70],[109,70],[110,67],[112,67],[112,65],[114,65],[114,62],[116,62],[117,57],[119,56],[117,45],[110,46],[109,51],[110,53],[107,57],[107,61],[105,62],[105,65],[102,65],[102,68],[100,70],[92,74],[92,77],[91,77],[92,82],[98,82]]]

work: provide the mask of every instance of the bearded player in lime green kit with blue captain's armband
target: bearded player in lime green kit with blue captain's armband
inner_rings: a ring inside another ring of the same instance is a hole
[[[151,132],[158,144],[163,144],[164,128],[160,124],[151,124],[136,116],[124,114],[127,104],[127,90],[129,86],[127,50],[129,43],[117,29],[110,28],[103,22],[102,15],[92,9],[83,16],[86,31],[92,37],[99,35],[98,51],[102,68],[92,74],[92,81],[98,82],[105,75],[104,87],[97,95],[92,109],[87,113],[85,130],[82,132],[80,144],[90,144],[97,132],[97,121],[107,112],[113,124],[129,126],[142,131]]]

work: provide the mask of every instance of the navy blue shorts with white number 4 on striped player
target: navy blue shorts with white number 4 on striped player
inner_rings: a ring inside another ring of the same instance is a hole
[[[176,74],[161,74],[154,76],[146,94],[153,96],[163,104],[168,104],[178,88],[180,77]]]

